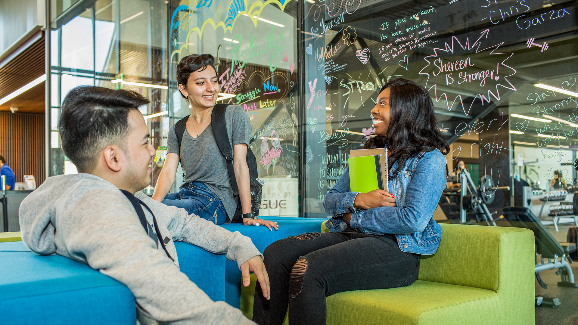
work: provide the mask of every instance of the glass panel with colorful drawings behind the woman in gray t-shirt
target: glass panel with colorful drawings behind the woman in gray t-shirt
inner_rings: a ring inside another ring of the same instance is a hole
[[[297,5],[180,1],[171,9],[171,123],[191,113],[177,90],[176,64],[189,54],[212,54],[219,61],[218,102],[241,105],[253,128],[263,216],[299,213]]]

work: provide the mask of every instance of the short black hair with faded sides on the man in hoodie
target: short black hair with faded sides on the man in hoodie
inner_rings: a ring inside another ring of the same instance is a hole
[[[149,103],[135,91],[79,86],[66,94],[58,131],[64,154],[79,172],[91,172],[109,145],[126,149],[128,113]]]

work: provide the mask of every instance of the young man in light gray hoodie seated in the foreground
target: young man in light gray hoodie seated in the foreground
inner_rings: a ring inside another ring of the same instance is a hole
[[[140,191],[150,183],[155,156],[138,110],[148,102],[135,92],[94,86],[66,95],[58,128],[79,173],[46,179],[22,202],[23,242],[124,283],[135,296],[137,323],[254,324],[180,272],[173,243],[226,254],[239,264],[244,285],[253,271],[268,298],[269,279],[251,239]]]

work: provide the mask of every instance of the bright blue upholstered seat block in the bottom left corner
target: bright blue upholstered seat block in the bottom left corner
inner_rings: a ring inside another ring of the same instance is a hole
[[[0,323],[135,324],[122,283],[66,257],[39,256],[22,242],[0,243]]]

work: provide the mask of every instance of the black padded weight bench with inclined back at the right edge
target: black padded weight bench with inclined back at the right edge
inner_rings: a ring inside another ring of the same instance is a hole
[[[578,283],[575,283],[574,280],[572,268],[568,263],[568,261],[572,263],[568,254],[576,251],[576,243],[556,241],[532,213],[532,210],[528,208],[510,206],[503,209],[503,216],[502,220],[497,221],[498,226],[527,228],[534,232],[536,254],[541,256],[540,263],[536,263],[536,279],[540,286],[548,289],[548,285],[540,278],[539,272],[557,268],[556,274],[560,275],[562,279],[558,282],[558,286],[578,287]]]

